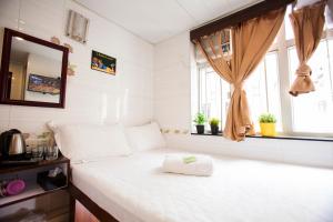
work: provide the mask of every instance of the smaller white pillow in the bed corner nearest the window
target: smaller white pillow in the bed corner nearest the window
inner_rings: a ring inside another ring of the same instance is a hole
[[[155,122],[129,128],[127,135],[131,147],[137,151],[165,148],[164,138]]]

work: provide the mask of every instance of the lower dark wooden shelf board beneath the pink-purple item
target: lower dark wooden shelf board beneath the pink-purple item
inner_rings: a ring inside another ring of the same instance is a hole
[[[6,206],[6,205],[10,205],[13,203],[18,203],[21,201],[26,201],[32,198],[37,198],[39,195],[44,195],[48,193],[52,193],[56,192],[58,190],[64,189],[65,186],[61,186],[54,190],[50,190],[50,191],[44,191],[34,180],[33,181],[26,181],[26,190],[18,194],[18,195],[10,195],[10,196],[6,196],[6,198],[0,198],[0,208]]]

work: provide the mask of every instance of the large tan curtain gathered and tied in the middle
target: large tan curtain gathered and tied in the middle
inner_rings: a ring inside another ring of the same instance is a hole
[[[232,54],[230,61],[223,57],[221,47],[223,31],[201,38],[196,44],[221,78],[233,85],[223,135],[241,141],[246,133],[253,134],[253,124],[244,80],[265,56],[284,18],[285,8],[268,12],[232,28]]]

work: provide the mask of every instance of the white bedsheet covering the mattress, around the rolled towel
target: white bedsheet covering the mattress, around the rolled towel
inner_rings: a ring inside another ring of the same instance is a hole
[[[168,174],[165,152],[74,164],[72,180],[124,222],[333,221],[333,170],[214,157],[212,176]]]

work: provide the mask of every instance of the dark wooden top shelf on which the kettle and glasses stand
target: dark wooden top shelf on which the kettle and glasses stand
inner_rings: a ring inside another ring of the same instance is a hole
[[[43,168],[43,167],[54,165],[60,163],[69,163],[69,159],[64,158],[63,155],[60,155],[57,160],[42,160],[36,164],[30,164],[30,165],[3,167],[0,164],[0,174],[38,169],[38,168]]]

